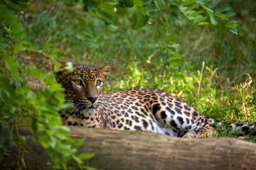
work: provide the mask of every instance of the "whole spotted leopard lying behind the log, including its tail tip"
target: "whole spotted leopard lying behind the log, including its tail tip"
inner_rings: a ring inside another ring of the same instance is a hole
[[[71,106],[61,110],[63,125],[110,130],[142,130],[183,138],[206,138],[217,135],[218,121],[199,113],[174,95],[157,89],[132,88],[103,94],[103,82],[111,66],[94,68],[73,64],[73,71],[62,64],[55,79],[65,89],[65,102]],[[254,125],[230,124],[241,134]]]

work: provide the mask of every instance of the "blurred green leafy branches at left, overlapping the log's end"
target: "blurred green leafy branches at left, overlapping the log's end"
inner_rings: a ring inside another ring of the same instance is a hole
[[[17,149],[17,168],[26,169],[23,162],[23,146],[25,140],[18,134],[18,125],[22,122],[30,123],[33,129],[33,137],[46,149],[53,165],[58,169],[67,169],[67,163],[74,159],[80,169],[88,169],[82,166],[82,159],[91,159],[93,154],[78,154],[77,147],[83,142],[73,140],[69,136],[70,129],[63,127],[58,111],[66,108],[64,104],[63,88],[55,82],[54,74],[45,76],[43,69],[35,65],[20,63],[22,52],[34,51],[46,55],[48,58],[56,57],[60,50],[54,49],[44,53],[46,47],[38,50],[36,45],[28,40],[26,30],[14,12],[20,13],[26,8],[29,1],[9,1],[0,4],[1,13],[1,94],[0,94],[0,134],[3,135],[3,125],[8,125],[10,144]],[[8,46],[11,46],[9,49]],[[43,87],[33,91],[29,79],[36,79],[43,83]],[[28,116],[27,119],[20,119]],[[1,158],[4,155],[4,137],[1,136]]]

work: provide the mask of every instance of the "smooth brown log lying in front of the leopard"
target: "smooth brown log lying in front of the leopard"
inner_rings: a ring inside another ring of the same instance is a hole
[[[50,169],[50,159],[32,140],[31,130],[20,128],[19,132],[29,148],[25,154],[28,167]],[[232,138],[181,139],[151,132],[73,127],[70,134],[86,138],[78,150],[95,153],[90,166],[98,169],[256,169],[256,144]],[[78,168],[72,162],[70,166]]]

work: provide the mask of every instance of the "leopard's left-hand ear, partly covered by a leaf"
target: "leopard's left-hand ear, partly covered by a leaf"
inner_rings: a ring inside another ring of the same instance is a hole
[[[53,63],[53,72],[55,74],[56,81],[61,82],[66,77],[66,75],[70,73],[70,71],[73,72],[73,70],[70,70],[70,67],[73,69],[71,62],[57,61]]]

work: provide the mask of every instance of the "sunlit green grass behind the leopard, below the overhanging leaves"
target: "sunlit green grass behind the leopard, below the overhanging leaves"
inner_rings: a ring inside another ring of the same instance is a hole
[[[33,35],[32,41],[41,47],[50,43],[61,48],[74,63],[92,67],[111,64],[112,75],[105,82],[106,93],[133,86],[160,89],[221,122],[256,122],[256,85],[253,84],[256,80],[256,20],[252,16],[245,14],[238,18],[239,35],[228,33],[220,40],[215,28],[194,26],[182,16],[170,17],[168,24],[173,29],[169,31],[155,21],[132,30],[132,16],[123,17],[113,33],[94,14],[82,13],[94,29],[97,48],[90,50],[87,42],[80,42],[78,49],[72,46],[75,21],[69,18],[71,14],[60,2],[55,4],[58,10],[46,8],[44,11],[43,8],[36,9],[36,13],[40,11],[36,16],[31,13],[28,29]],[[236,10],[238,15],[245,11]],[[170,34],[178,35],[173,47],[184,60],[181,66],[173,64],[164,47],[163,39]],[[181,74],[184,79],[174,74]],[[220,136],[234,135],[228,128],[220,132]],[[255,139],[247,140],[255,142]]]

